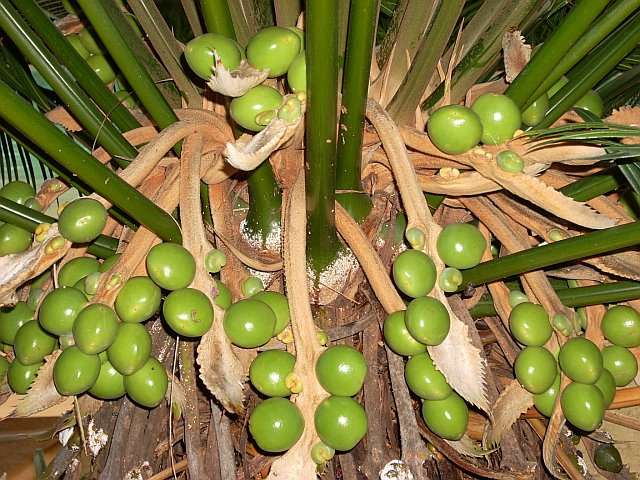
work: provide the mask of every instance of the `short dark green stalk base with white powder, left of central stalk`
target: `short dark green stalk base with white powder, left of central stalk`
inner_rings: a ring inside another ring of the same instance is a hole
[[[266,246],[267,237],[280,228],[282,194],[273,175],[271,164],[262,162],[247,176],[249,189],[249,211],[245,228],[249,233],[260,236]]]

